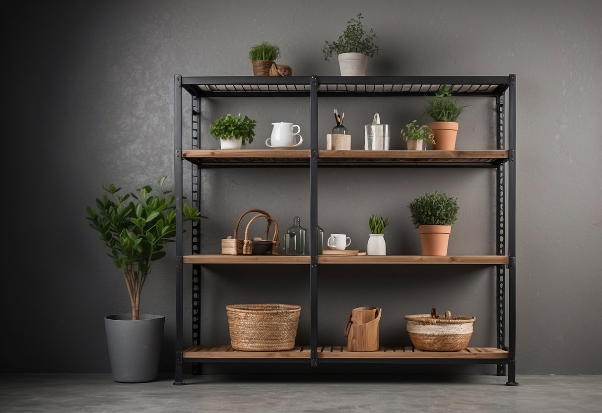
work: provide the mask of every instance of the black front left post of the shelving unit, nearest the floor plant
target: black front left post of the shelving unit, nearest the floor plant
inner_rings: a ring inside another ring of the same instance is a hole
[[[182,317],[184,303],[182,297],[182,76],[176,75],[173,87],[173,181],[176,197],[176,373],[174,385],[183,385]]]

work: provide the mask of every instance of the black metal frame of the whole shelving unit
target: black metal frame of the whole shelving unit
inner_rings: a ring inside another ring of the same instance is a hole
[[[420,163],[337,163],[318,159],[318,96],[432,96],[440,85],[452,84],[456,96],[489,96],[496,99],[496,147],[509,152],[508,160],[482,164],[420,164]],[[507,385],[516,382],[516,77],[509,76],[175,76],[174,105],[174,173],[176,196],[176,371],[175,385],[184,384],[183,374],[183,268],[182,268],[182,88],[190,93],[192,147],[200,146],[200,99],[203,97],[237,96],[308,96],[311,117],[310,158],[308,163],[253,163],[259,167],[309,167],[310,184],[310,359],[312,367],[328,363],[391,363],[391,364],[496,364],[497,373],[506,375]],[[505,98],[507,93],[507,99]],[[507,112],[507,113],[506,113]],[[192,172],[193,202],[200,206],[200,168],[248,167],[251,164],[202,164],[195,161]],[[509,256],[509,265],[496,266],[496,323],[497,346],[509,352],[507,359],[320,359],[318,358],[318,166],[319,167],[494,167],[496,169],[496,250]],[[193,234],[198,235],[198,226]],[[193,237],[193,253],[200,252],[200,237]],[[200,344],[200,265],[193,265],[193,344]],[[507,272],[507,273],[506,273]],[[506,324],[507,320],[507,324]],[[506,346],[507,340],[507,346]],[[193,363],[193,373],[200,373],[200,362],[307,362],[306,358],[291,359],[187,359]]]

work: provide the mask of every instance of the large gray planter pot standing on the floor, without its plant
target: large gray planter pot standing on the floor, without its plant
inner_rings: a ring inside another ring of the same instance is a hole
[[[157,379],[163,315],[113,314],[105,317],[105,332],[113,380],[123,383],[144,383]]]

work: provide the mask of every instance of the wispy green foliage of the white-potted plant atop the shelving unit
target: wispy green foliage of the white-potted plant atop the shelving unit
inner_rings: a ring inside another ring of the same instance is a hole
[[[374,57],[378,53],[379,47],[374,44],[376,34],[372,29],[369,32],[364,30],[363,18],[362,13],[358,13],[356,19],[347,22],[347,28],[337,41],[329,42],[326,40],[322,49],[324,60],[329,61],[333,54],[363,53],[368,57]]]

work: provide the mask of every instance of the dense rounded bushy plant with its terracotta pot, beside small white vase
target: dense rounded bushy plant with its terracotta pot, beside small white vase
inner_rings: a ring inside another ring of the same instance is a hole
[[[422,255],[447,255],[452,225],[458,219],[458,198],[438,191],[414,199],[408,208],[420,233]]]

